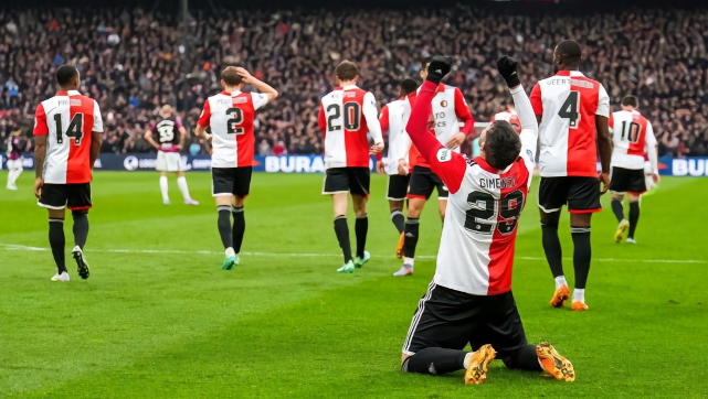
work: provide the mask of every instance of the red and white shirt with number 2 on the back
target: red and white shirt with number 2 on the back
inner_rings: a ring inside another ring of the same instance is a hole
[[[211,127],[212,168],[253,165],[256,109],[268,104],[262,93],[222,91],[204,101],[199,126]]]

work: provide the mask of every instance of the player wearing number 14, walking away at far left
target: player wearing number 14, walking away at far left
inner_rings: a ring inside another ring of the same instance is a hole
[[[50,246],[56,263],[52,281],[70,280],[64,259],[64,208],[74,218],[72,255],[78,276],[87,279],[88,262],[84,246],[88,237],[88,209],[94,162],[103,140],[103,119],[98,103],[78,93],[81,77],[72,65],[56,71],[60,90],[36,106],[34,114],[34,195],[47,208]]]

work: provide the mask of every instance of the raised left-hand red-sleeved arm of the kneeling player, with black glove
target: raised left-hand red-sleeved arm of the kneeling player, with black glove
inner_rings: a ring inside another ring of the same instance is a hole
[[[427,67],[427,78],[425,78],[421,86],[421,91],[418,94],[405,131],[421,155],[431,165],[433,172],[440,176],[450,192],[454,194],[459,190],[467,169],[467,162],[461,154],[444,148],[435,136],[427,130],[427,118],[432,111],[431,101],[435,97],[440,80],[450,72],[452,62],[453,60],[450,56],[433,57]]]

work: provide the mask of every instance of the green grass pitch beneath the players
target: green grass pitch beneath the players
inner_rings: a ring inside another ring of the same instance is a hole
[[[603,198],[585,313],[548,305],[553,280],[535,191],[520,222],[514,292],[529,341],[551,341],[578,379],[558,382],[495,362],[478,387],[464,386],[461,373],[430,377],[399,368],[435,265],[441,224],[431,205],[419,245],[429,257],[418,260],[412,278],[392,278],[397,234],[385,181],[374,176],[373,258],[342,276],[335,272],[341,258],[330,202],[319,195],[321,176],[256,174],[243,246],[253,255],[228,272],[209,174],[188,180],[198,207],[181,205],[172,179],[168,207],[154,173],[97,173],[86,249],[92,276],[82,281],[67,256],[66,284],[49,280],[51,252],[7,247],[49,248],[31,173],[22,175],[21,191],[0,192],[0,398],[708,397],[708,180],[664,179],[643,201],[636,246],[612,241],[616,222]],[[112,251],[119,249],[168,252]]]

